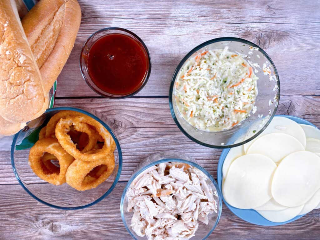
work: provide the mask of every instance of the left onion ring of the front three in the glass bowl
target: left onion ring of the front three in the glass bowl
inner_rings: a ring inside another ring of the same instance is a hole
[[[44,153],[50,153],[57,158],[60,165],[59,172],[52,172],[44,165],[41,159]],[[66,172],[73,160],[74,158],[61,147],[58,140],[53,138],[38,140],[30,148],[29,165],[33,172],[39,178],[54,185],[61,185],[66,182]]]

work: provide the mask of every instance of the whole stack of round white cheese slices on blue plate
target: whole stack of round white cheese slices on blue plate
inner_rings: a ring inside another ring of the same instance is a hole
[[[269,221],[320,208],[320,130],[275,116],[256,139],[230,149],[222,174],[228,204]]]

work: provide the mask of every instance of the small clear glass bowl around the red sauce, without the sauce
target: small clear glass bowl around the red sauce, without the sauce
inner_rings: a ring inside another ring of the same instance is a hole
[[[138,85],[137,88],[133,92],[128,93],[126,95],[111,94],[111,93],[105,92],[102,89],[100,89],[92,81],[92,78],[89,74],[87,63],[86,63],[86,59],[87,59],[87,56],[89,55],[89,51],[90,51],[90,48],[92,47],[92,45],[97,40],[99,40],[101,37],[106,36],[108,34],[116,34],[116,33],[130,36],[132,39],[134,39],[140,45],[142,45],[142,47],[144,49],[144,54],[146,55],[147,63],[148,63],[147,72],[146,72],[143,80],[141,81],[140,85]],[[122,98],[131,97],[131,96],[137,94],[147,84],[150,73],[151,73],[151,58],[150,58],[150,54],[149,54],[149,51],[148,51],[146,44],[144,44],[144,42],[140,39],[140,37],[135,35],[133,32],[131,32],[127,29],[124,29],[124,28],[103,28],[103,29],[100,29],[99,31],[93,33],[90,37],[88,37],[87,41],[84,43],[82,50],[81,50],[81,54],[80,54],[80,69],[81,69],[81,73],[82,73],[82,76],[83,76],[85,82],[88,84],[88,86],[94,92],[96,92],[99,95],[106,97],[106,98],[122,99]]]

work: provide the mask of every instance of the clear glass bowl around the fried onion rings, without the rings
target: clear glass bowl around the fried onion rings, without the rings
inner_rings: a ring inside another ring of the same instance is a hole
[[[110,132],[116,142],[116,150],[114,152],[116,167],[110,177],[97,188],[86,191],[77,191],[66,183],[55,186],[40,179],[28,164],[30,148],[38,140],[40,129],[47,124],[54,114],[62,110],[81,112],[94,118]],[[114,132],[109,127],[110,125],[111,122],[109,122],[105,116],[88,108],[60,107],[46,110],[42,116],[29,122],[27,127],[18,132],[13,138],[11,163],[17,180],[30,196],[39,202],[54,208],[75,210],[100,202],[103,198],[108,196],[116,186],[122,169],[122,152],[120,144]]]

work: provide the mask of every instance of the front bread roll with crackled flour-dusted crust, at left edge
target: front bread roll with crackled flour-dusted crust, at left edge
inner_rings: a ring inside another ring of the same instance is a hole
[[[7,122],[21,124],[44,111],[48,94],[44,92],[15,1],[0,0],[0,4],[0,116]],[[4,125],[0,125],[0,133]]]

